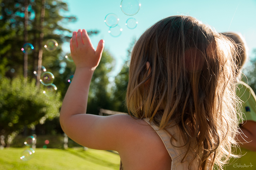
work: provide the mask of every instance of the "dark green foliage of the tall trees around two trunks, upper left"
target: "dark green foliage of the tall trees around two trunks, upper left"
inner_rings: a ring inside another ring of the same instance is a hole
[[[38,63],[41,7],[41,0],[28,0],[28,43],[34,46],[33,53],[28,55],[29,78],[35,78],[33,71]],[[21,48],[24,44],[24,0],[2,0],[0,8],[2,8],[0,11],[0,63],[4,58],[8,60],[6,70],[2,71],[0,68],[0,72],[12,78],[23,74],[24,53]],[[66,11],[68,11],[68,6],[65,2],[45,0],[45,17],[42,23],[44,39],[41,48],[43,49],[43,64],[45,64],[43,66],[46,69],[56,71],[60,69],[58,57],[65,55],[60,47],[71,38],[71,31],[62,25],[75,22],[76,18],[60,14]],[[53,52],[48,52],[44,48],[48,39],[55,39],[58,42],[58,48]],[[44,62],[44,60],[49,62]],[[11,72],[12,68],[15,72]]]

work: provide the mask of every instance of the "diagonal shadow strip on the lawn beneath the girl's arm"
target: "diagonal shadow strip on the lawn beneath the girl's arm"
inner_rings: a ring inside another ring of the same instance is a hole
[[[106,166],[106,167],[109,167],[109,168],[116,168],[117,166],[119,166],[119,164],[113,164],[113,163],[111,163],[109,161],[106,161],[105,159],[96,157],[92,153],[84,151],[82,149],[81,150],[71,150],[71,149],[67,149],[66,150],[66,149],[62,149],[62,150],[66,151],[66,152],[69,152],[69,153],[71,153],[73,155],[76,155],[76,156],[78,156],[78,157],[80,157],[82,159],[85,159],[87,161],[90,161],[90,162],[92,162],[94,164],[99,164],[99,165]]]

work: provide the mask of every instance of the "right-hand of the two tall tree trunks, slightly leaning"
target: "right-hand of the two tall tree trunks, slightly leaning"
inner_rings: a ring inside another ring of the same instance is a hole
[[[42,0],[42,7],[41,7],[41,20],[40,20],[40,37],[39,37],[39,43],[38,43],[38,65],[37,65],[37,77],[36,77],[36,86],[40,87],[40,77],[41,77],[41,67],[42,67],[42,57],[43,57],[43,49],[42,49],[42,43],[44,40],[44,19],[45,19],[45,0]]]

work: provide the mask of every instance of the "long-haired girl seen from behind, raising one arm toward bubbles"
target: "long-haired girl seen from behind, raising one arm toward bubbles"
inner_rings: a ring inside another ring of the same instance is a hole
[[[235,48],[225,36],[190,16],[171,16],[147,29],[131,55],[130,116],[85,114],[103,48],[104,40],[95,51],[85,30],[73,32],[76,71],[60,113],[71,139],[117,151],[124,170],[221,168],[235,156]]]

